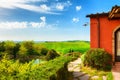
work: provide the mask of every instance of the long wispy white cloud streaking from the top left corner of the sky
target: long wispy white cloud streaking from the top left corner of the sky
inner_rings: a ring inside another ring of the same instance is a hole
[[[36,6],[32,4],[28,4],[31,2],[46,2],[47,0],[0,0],[0,8],[7,8],[7,9],[16,9],[21,8],[29,11],[46,13],[46,14],[57,14],[55,12],[50,11],[50,7],[46,6],[45,4]]]

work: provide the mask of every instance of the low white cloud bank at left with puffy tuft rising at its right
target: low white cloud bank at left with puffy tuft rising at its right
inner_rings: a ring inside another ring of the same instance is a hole
[[[40,22],[0,22],[0,29],[42,28],[55,30],[57,24],[48,24],[46,17],[40,17]]]

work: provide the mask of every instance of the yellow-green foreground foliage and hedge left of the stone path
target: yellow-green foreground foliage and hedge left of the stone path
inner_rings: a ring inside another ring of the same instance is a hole
[[[72,57],[61,56],[41,64],[20,63],[4,57],[0,61],[1,80],[67,80],[66,65]],[[61,75],[61,71],[65,74]]]

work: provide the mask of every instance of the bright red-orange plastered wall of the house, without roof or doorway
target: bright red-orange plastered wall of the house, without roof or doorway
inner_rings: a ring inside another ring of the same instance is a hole
[[[110,54],[113,54],[112,37],[115,28],[120,26],[119,20],[108,20],[107,16],[100,18],[100,48],[104,48]],[[97,35],[98,21],[96,18],[90,18],[90,45],[91,48],[98,48],[98,35]]]

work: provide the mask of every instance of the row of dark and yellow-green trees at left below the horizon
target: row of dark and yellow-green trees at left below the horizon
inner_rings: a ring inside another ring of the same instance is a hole
[[[9,59],[19,59],[21,62],[26,62],[37,58],[45,59],[48,52],[57,54],[55,50],[50,51],[34,41],[0,42],[0,59],[2,59],[4,55],[7,55]]]

